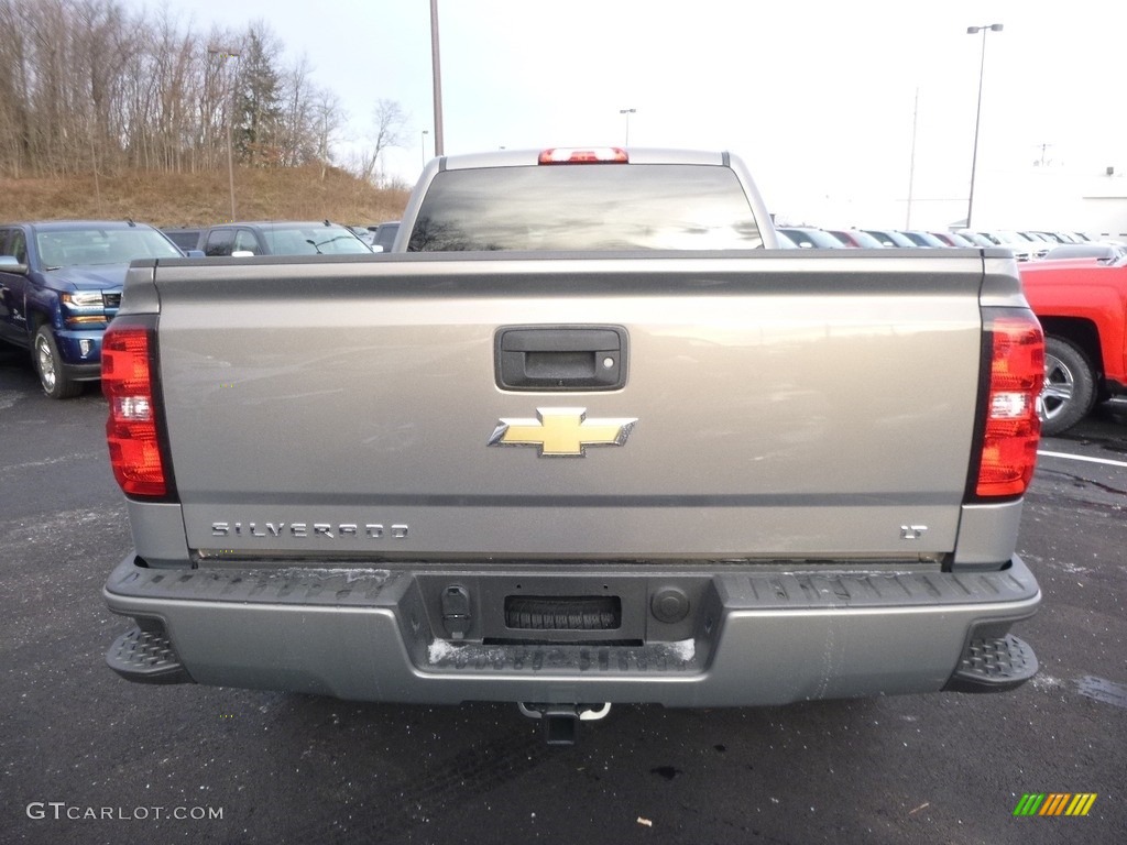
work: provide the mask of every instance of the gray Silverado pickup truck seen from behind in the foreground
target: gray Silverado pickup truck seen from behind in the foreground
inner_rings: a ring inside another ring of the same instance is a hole
[[[1040,327],[1004,250],[775,249],[727,153],[431,162],[390,255],[135,263],[131,681],[518,703],[1012,688]]]

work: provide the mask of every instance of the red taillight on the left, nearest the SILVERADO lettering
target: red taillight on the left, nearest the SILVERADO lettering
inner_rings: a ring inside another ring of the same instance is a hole
[[[109,401],[106,441],[114,478],[126,496],[165,498],[171,478],[160,444],[152,328],[115,321],[101,341],[101,391]]]

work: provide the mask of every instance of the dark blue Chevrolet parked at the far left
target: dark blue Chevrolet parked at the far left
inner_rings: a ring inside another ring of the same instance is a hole
[[[0,224],[0,339],[32,350],[48,397],[78,395],[101,375],[101,336],[130,261],[183,257],[133,221]]]

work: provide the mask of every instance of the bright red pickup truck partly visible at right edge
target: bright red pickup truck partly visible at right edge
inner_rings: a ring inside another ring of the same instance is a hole
[[[1057,435],[1097,401],[1127,395],[1127,264],[1028,261],[1020,272],[1045,329],[1041,432]]]

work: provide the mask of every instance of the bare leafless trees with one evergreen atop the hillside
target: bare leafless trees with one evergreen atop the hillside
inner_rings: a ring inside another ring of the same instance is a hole
[[[0,0],[0,177],[218,171],[229,130],[245,167],[334,163],[339,99],[264,21],[203,33],[167,6]],[[372,146],[348,162],[364,180],[405,123],[394,101],[373,110]]]

